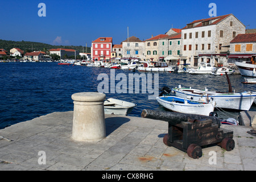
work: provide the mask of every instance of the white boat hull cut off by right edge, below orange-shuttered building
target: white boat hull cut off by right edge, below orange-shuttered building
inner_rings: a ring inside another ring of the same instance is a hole
[[[235,62],[242,76],[256,77],[256,64]]]

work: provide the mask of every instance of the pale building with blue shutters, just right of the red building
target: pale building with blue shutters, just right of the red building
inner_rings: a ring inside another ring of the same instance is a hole
[[[131,36],[126,40],[123,40],[123,57],[136,57],[138,59],[144,60],[145,56],[145,44],[142,40],[135,36]]]

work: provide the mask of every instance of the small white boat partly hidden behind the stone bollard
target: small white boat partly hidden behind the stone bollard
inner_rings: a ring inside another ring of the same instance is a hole
[[[104,102],[104,112],[105,114],[127,115],[131,113],[135,106],[136,104],[132,102],[109,98]]]

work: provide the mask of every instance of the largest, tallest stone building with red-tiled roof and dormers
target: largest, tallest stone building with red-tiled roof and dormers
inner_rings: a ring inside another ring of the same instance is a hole
[[[181,64],[228,64],[230,41],[245,34],[245,25],[233,14],[194,20],[181,30]]]

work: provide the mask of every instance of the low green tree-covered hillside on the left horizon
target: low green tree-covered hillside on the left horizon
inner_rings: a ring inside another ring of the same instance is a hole
[[[20,48],[25,52],[32,52],[32,51],[47,51],[49,49],[56,49],[56,48],[65,48],[65,49],[75,49],[82,52],[82,46],[52,46],[50,44],[44,44],[39,42],[27,42],[27,41],[20,41],[15,42],[11,40],[1,40],[0,39],[0,49],[5,49],[7,52],[10,53],[10,49],[12,48]],[[90,47],[87,47],[84,52],[90,53]]]

